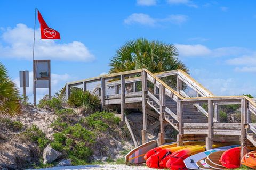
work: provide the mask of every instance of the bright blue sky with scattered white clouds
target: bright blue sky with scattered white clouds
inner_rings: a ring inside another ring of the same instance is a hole
[[[32,71],[37,7],[61,35],[39,40],[36,21],[35,58],[51,59],[53,92],[108,72],[115,51],[143,37],[175,44],[191,76],[215,95],[256,96],[255,6],[238,0],[0,1],[0,62],[17,82],[19,70]],[[38,98],[46,92],[39,89]]]

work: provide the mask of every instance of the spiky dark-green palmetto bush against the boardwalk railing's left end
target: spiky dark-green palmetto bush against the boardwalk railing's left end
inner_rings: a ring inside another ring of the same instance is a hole
[[[100,107],[100,100],[89,91],[84,92],[81,89],[73,89],[68,98],[68,104],[74,107],[83,106],[85,111],[93,112]]]

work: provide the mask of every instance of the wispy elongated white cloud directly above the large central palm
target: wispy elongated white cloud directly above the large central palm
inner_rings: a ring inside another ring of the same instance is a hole
[[[152,18],[147,14],[133,13],[124,20],[124,23],[127,25],[140,24],[153,27],[163,23],[182,24],[187,19],[188,17],[186,15],[169,15],[166,18]]]

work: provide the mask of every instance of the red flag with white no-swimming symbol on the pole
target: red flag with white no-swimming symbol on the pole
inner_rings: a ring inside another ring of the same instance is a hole
[[[49,28],[39,10],[37,11],[38,20],[40,22],[41,39],[60,39],[60,33],[52,28]]]

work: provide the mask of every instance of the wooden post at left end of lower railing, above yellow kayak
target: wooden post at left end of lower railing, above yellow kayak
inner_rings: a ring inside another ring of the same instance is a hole
[[[183,145],[182,137],[184,135],[184,129],[183,129],[183,104],[181,103],[180,99],[177,102],[177,116],[178,116],[178,121],[179,121],[179,134],[177,135],[177,145],[178,146],[182,146]]]

